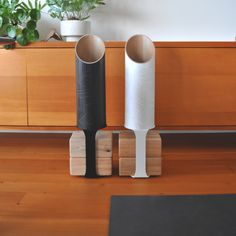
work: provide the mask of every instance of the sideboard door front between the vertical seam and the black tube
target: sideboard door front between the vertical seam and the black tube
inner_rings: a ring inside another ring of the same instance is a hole
[[[29,49],[27,78],[29,125],[76,125],[73,49]]]

